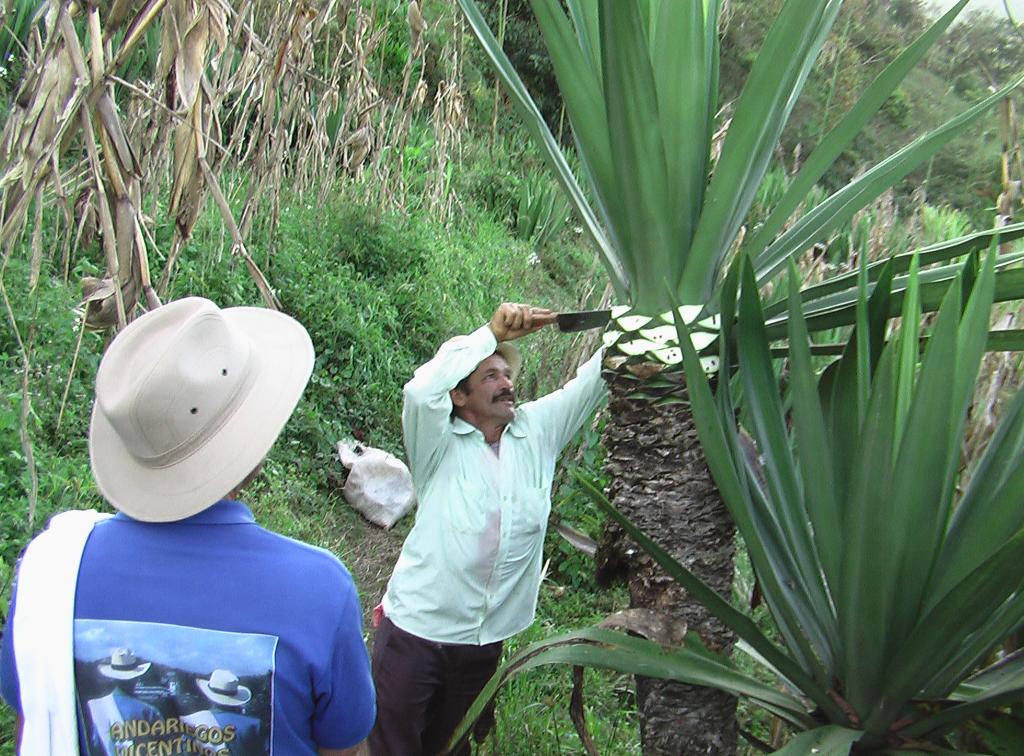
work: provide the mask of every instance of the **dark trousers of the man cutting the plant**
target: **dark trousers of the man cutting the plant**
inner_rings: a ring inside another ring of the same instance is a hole
[[[435,756],[477,694],[498,669],[502,643],[435,643],[407,633],[386,617],[374,638],[373,674],[377,723],[373,756]],[[494,704],[473,728],[477,742],[494,724]],[[469,754],[468,739],[453,754]]]

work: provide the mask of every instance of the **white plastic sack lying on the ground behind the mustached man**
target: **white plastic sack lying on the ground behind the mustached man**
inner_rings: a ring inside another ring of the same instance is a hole
[[[416,504],[413,475],[394,455],[342,440],[338,442],[338,457],[348,469],[342,489],[345,501],[371,522],[388,530]]]

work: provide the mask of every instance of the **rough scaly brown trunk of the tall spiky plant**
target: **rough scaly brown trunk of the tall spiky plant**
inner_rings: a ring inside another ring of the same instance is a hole
[[[735,527],[715,487],[689,409],[634,398],[637,382],[606,375],[605,426],[611,502],[644,533],[721,595],[733,577]],[[612,539],[615,538],[614,534]],[[622,533],[618,533],[622,540]],[[733,634],[633,545],[624,558],[633,607],[683,622],[714,649],[729,653]],[[637,678],[644,754],[728,754],[736,750],[736,700],[718,690]]]

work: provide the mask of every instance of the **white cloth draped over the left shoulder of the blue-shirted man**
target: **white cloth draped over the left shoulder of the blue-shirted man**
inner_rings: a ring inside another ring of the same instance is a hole
[[[94,509],[50,518],[22,557],[12,620],[22,697],[22,756],[78,753],[73,629],[75,587]]]

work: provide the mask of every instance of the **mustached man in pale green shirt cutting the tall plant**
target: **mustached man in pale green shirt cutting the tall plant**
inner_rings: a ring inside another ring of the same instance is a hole
[[[555,463],[605,395],[598,350],[562,388],[515,406],[521,356],[510,342],[554,321],[502,304],[406,384],[419,509],[374,641],[376,756],[440,752],[502,641],[534,621]]]

